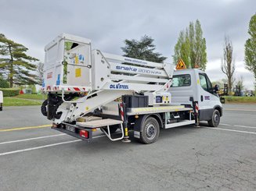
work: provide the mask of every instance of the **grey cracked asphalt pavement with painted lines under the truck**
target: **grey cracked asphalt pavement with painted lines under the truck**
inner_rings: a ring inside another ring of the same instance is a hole
[[[0,190],[256,190],[256,104],[218,128],[162,129],[156,143],[92,143],[50,129],[40,107],[0,111]]]

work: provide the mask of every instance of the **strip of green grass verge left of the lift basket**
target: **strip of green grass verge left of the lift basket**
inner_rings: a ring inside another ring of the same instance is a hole
[[[3,107],[5,106],[25,106],[25,105],[41,105],[41,101],[23,100],[16,97],[4,97]]]

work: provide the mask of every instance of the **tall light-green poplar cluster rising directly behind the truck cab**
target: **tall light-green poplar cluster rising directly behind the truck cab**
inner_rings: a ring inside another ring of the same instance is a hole
[[[189,27],[180,32],[172,58],[175,65],[182,58],[188,68],[195,68],[198,65],[201,69],[206,69],[206,41],[198,19],[195,24],[190,22]]]

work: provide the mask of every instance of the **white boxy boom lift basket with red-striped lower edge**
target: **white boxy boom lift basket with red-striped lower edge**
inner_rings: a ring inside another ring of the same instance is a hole
[[[92,90],[91,41],[61,34],[45,46],[42,91]]]

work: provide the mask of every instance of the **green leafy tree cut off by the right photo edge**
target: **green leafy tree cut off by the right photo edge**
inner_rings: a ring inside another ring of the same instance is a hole
[[[250,37],[245,43],[244,61],[246,69],[254,73],[254,80],[256,80],[256,14],[251,17],[248,34]],[[256,89],[256,83],[254,84]]]

